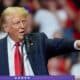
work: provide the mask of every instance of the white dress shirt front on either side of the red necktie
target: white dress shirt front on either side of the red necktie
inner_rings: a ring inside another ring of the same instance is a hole
[[[15,76],[15,63],[14,63],[14,51],[15,51],[15,42],[8,36],[7,38],[7,43],[8,43],[8,63],[9,63],[9,75],[10,76]],[[21,46],[19,47],[20,52],[21,51]],[[21,54],[22,55],[22,54]],[[24,59],[24,70],[25,70],[25,76],[34,76],[34,72],[31,68],[29,59],[27,57],[26,51],[25,51],[25,46],[23,46],[23,59]]]

